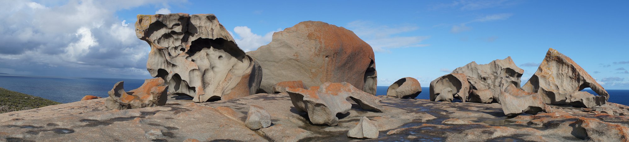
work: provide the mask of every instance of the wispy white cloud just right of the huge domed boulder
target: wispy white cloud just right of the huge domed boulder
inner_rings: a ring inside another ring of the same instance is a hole
[[[370,21],[352,21],[347,28],[369,43],[376,52],[389,52],[391,48],[430,46],[421,41],[430,36],[399,36],[400,33],[418,30],[417,26],[384,26]]]

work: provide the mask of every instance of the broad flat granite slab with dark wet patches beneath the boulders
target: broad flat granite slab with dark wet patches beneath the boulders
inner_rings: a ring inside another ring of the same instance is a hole
[[[338,125],[316,126],[287,94],[255,94],[192,104],[168,96],[167,105],[108,111],[103,99],[0,114],[0,139],[25,141],[356,141],[347,137],[361,117],[378,126],[376,139],[362,141],[616,141],[629,138],[628,106],[553,106],[550,113],[504,115],[500,104],[381,98],[382,112],[352,101]],[[270,114],[272,125],[245,126],[251,105]],[[599,111],[597,111],[599,110]],[[601,112],[606,110],[608,112]],[[615,115],[614,115],[615,114]],[[125,129],[121,129],[125,128]],[[583,131],[581,131],[583,130]],[[574,131],[574,133],[573,133]],[[161,133],[161,134],[159,134]],[[624,136],[624,137],[623,137]]]

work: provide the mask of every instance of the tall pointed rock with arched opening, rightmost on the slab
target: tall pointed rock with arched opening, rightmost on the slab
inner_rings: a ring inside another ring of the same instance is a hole
[[[587,87],[599,96],[578,92]],[[610,98],[610,94],[601,84],[598,84],[581,66],[553,48],[548,49],[537,72],[522,89],[540,94],[546,104],[594,107],[605,104]]]

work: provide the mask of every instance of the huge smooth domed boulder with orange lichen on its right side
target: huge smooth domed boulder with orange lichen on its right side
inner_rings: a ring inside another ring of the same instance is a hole
[[[260,92],[274,84],[302,80],[306,86],[348,82],[376,94],[374,51],[352,31],[321,21],[303,21],[273,34],[273,40],[247,52],[262,65]]]

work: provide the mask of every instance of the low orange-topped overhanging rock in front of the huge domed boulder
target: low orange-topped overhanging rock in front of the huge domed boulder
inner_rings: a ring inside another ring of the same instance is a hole
[[[377,104],[380,101],[379,97],[357,89],[347,82],[325,82],[319,90],[294,88],[286,91],[295,108],[300,112],[307,112],[313,124],[336,126],[337,114],[345,114],[352,108],[352,104],[346,100],[347,97],[365,110],[382,112],[383,108]]]

